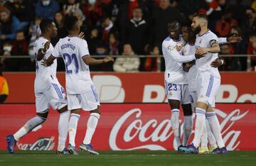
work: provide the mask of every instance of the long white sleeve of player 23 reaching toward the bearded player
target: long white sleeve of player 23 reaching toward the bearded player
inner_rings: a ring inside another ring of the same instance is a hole
[[[166,45],[163,44],[164,50],[166,50],[166,53],[171,56],[176,62],[184,63],[184,62],[191,62],[192,60],[196,60],[195,55],[187,55],[182,56],[181,52],[178,52],[176,50],[176,46],[171,47],[170,45],[166,47]]]

